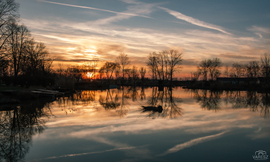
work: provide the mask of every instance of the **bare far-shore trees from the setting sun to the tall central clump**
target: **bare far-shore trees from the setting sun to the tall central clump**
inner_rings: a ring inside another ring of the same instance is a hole
[[[177,50],[163,50],[159,53],[150,53],[147,57],[146,66],[148,74],[153,80],[172,81],[175,72],[179,69],[182,61],[182,53]],[[107,80],[126,80],[137,81],[146,78],[147,70],[145,66],[137,67],[131,65],[130,58],[125,53],[120,53],[114,61],[106,61],[97,67],[99,60],[92,59],[80,66],[68,67],[66,70],[57,69],[59,74],[84,74],[85,79],[107,79]],[[87,78],[87,73],[91,76]]]

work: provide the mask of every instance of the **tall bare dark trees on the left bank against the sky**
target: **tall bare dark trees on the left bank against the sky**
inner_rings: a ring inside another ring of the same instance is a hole
[[[31,37],[19,22],[19,5],[14,0],[0,1],[0,76],[37,78],[51,72],[52,60],[44,43]]]

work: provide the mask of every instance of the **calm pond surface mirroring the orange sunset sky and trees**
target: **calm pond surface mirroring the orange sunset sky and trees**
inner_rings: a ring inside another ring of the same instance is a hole
[[[2,161],[228,162],[270,154],[270,94],[125,88],[16,107],[0,111]]]

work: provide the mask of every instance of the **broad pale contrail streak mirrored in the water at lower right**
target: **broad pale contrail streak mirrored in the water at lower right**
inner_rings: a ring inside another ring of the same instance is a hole
[[[176,145],[176,146],[170,148],[169,150],[167,150],[166,152],[164,152],[163,154],[161,154],[160,156],[171,154],[171,153],[174,153],[174,152],[183,150],[183,149],[185,149],[187,147],[191,147],[193,145],[197,145],[197,144],[202,143],[202,142],[205,142],[205,141],[213,140],[215,138],[218,138],[218,137],[222,136],[226,132],[227,131],[224,131],[224,132],[221,132],[221,133],[218,133],[218,134],[214,134],[214,135],[210,135],[210,136],[196,138],[196,139],[190,140],[188,142],[185,142],[185,143]]]

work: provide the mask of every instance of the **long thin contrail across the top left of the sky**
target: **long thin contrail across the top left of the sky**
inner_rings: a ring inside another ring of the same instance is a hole
[[[67,3],[59,3],[59,2],[52,2],[52,1],[46,1],[46,0],[37,0],[37,1],[44,2],[44,3],[57,4],[57,5],[62,5],[62,6],[69,6],[69,7],[90,9],[90,10],[103,11],[103,12],[110,12],[110,13],[115,13],[115,14],[119,14],[119,15],[138,16],[138,17],[150,18],[149,16],[144,16],[144,15],[139,15],[139,14],[134,14],[134,13],[117,12],[117,11],[100,9],[100,8],[94,8],[94,7],[88,7],[88,6],[79,6],[79,5],[73,5],[73,4],[67,4]]]

